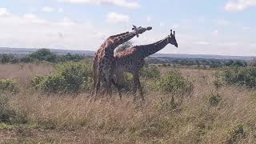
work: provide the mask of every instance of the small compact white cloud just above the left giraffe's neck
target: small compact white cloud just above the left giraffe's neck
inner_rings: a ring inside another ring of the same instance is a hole
[[[130,17],[126,14],[118,14],[118,13],[110,12],[106,15],[106,22],[124,23],[129,21],[130,21]]]

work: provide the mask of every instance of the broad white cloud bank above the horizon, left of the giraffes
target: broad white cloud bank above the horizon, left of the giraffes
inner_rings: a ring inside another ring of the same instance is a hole
[[[35,14],[0,16],[0,27],[4,27],[0,34],[0,46],[77,50],[96,50],[106,36],[120,30],[102,30],[94,28],[89,22],[74,22],[70,18],[50,21]]]

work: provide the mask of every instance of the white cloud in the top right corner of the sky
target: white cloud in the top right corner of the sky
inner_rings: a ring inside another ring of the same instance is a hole
[[[226,3],[225,10],[238,12],[256,6],[256,0],[230,0]]]

